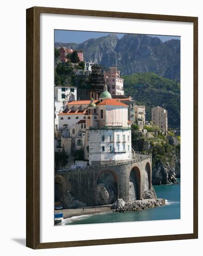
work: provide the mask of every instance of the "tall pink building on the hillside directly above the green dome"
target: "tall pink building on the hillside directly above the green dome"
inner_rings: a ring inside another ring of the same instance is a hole
[[[117,67],[109,67],[108,71],[104,71],[104,79],[108,86],[109,93],[114,95],[124,95],[123,79],[120,76],[120,71]]]

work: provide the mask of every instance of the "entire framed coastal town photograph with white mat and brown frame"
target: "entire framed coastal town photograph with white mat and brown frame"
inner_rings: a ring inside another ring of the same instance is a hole
[[[26,24],[27,247],[197,238],[197,17]]]

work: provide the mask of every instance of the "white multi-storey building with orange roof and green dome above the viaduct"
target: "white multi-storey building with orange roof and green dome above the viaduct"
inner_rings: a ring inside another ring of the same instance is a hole
[[[90,166],[131,159],[131,127],[127,108],[126,104],[111,98],[107,86],[100,95],[100,102],[89,105],[86,154]]]

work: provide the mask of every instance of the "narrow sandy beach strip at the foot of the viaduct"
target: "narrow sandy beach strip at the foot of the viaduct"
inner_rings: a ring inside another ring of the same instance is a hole
[[[111,205],[105,205],[105,206],[101,206],[101,207],[100,206],[86,207],[86,208],[84,208],[84,211],[82,208],[63,209],[63,210],[55,210],[55,213],[63,212],[63,219],[66,219],[66,218],[71,218],[73,216],[97,214],[97,213],[101,213],[101,212],[112,212],[113,210],[110,207],[111,207]]]

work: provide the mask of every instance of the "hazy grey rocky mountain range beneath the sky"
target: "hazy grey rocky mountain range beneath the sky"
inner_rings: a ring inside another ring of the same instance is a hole
[[[153,72],[180,81],[180,40],[163,42],[142,34],[115,34],[92,38],[81,44],[56,42],[55,46],[82,49],[86,61],[102,67],[118,67],[121,74]]]

